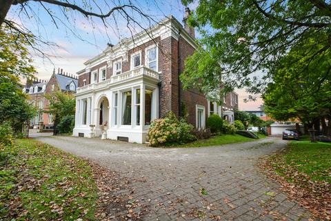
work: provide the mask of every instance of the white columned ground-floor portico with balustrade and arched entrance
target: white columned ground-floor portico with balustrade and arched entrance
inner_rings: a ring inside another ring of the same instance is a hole
[[[145,142],[159,117],[158,83],[159,73],[141,66],[78,88],[73,135],[99,137],[103,125],[108,139]]]

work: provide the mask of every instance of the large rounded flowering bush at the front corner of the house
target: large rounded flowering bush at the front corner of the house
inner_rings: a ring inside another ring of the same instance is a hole
[[[169,112],[166,117],[155,119],[150,124],[147,139],[150,146],[188,143],[197,140],[193,129],[184,119],[179,120],[174,113]]]

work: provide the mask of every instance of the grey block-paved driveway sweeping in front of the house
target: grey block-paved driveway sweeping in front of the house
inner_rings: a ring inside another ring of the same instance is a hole
[[[310,215],[255,165],[258,157],[285,147],[279,137],[203,148],[150,148],[82,137],[36,139],[134,180],[130,194],[148,208],[142,220],[308,220]]]

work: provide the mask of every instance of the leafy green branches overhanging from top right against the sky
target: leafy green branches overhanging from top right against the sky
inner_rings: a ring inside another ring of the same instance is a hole
[[[182,0],[184,4],[193,1]],[[317,61],[318,55],[330,48],[330,18],[330,1],[199,0],[189,21],[201,33],[202,48],[188,58],[182,79],[193,81],[198,75],[196,71],[202,71],[208,62],[212,65],[203,75],[203,86],[218,81],[221,75],[225,86],[248,87],[250,93],[263,92],[279,59],[291,48],[307,39],[317,39],[321,48],[309,54],[310,61]],[[310,45],[306,52],[313,49]],[[294,58],[287,68],[298,62]],[[311,64],[301,68],[310,68]],[[263,77],[257,77],[257,73]]]

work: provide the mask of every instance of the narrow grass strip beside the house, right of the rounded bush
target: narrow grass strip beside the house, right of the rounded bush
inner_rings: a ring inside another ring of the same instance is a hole
[[[200,147],[200,146],[219,146],[223,144],[234,144],[241,142],[251,142],[255,139],[249,137],[243,137],[241,135],[217,135],[214,137],[210,137],[207,140],[197,140],[196,142],[192,142],[189,144],[181,144],[176,147]]]

